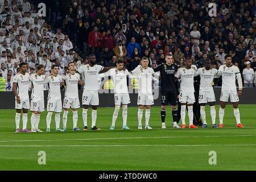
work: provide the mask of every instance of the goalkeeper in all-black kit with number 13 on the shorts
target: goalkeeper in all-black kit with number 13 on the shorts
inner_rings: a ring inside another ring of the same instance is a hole
[[[166,63],[154,68],[154,72],[160,71],[161,75],[162,129],[166,129],[166,107],[169,104],[171,105],[172,118],[174,119],[173,127],[180,128],[180,126],[177,125],[177,94],[175,86],[175,73],[177,72],[177,65],[174,64],[174,57],[171,54],[167,54],[165,60]]]

